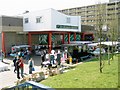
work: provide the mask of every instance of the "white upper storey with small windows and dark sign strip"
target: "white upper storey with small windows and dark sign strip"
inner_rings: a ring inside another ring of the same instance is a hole
[[[81,32],[81,17],[68,16],[54,9],[29,12],[23,15],[23,30]]]

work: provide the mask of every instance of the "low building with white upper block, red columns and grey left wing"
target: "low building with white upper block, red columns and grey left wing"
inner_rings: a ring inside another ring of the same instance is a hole
[[[82,25],[80,16],[69,16],[54,9],[26,12],[22,17],[0,16],[0,50],[6,55],[13,45],[53,46],[64,42],[85,40],[94,27]],[[81,35],[81,34],[82,35]]]

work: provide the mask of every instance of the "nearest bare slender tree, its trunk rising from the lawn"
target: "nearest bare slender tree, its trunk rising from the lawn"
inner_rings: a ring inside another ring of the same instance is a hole
[[[96,4],[96,27],[97,27],[97,33],[98,33],[98,38],[99,38],[99,48],[100,48],[100,55],[99,55],[99,60],[100,60],[100,73],[103,72],[103,67],[104,67],[104,63],[102,60],[102,55],[101,55],[101,41],[103,40],[103,25],[105,22],[105,6],[102,5],[101,3]]]

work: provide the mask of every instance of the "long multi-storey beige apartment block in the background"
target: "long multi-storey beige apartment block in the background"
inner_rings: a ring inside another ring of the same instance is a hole
[[[98,3],[95,5],[68,8],[58,11],[66,15],[81,16],[82,25],[95,27],[96,38],[100,31],[98,27],[102,24],[100,26],[102,29],[102,36],[104,36],[104,38],[110,36],[109,38],[111,39],[115,37],[114,40],[116,40],[120,36],[120,1],[112,1],[113,0],[110,0],[109,3]]]

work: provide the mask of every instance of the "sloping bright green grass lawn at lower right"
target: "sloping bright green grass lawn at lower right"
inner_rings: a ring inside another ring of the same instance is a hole
[[[114,56],[111,65],[107,57],[103,57],[103,73],[99,71],[99,60],[83,62],[70,71],[51,76],[41,84],[52,88],[117,88],[118,87],[118,56]]]

